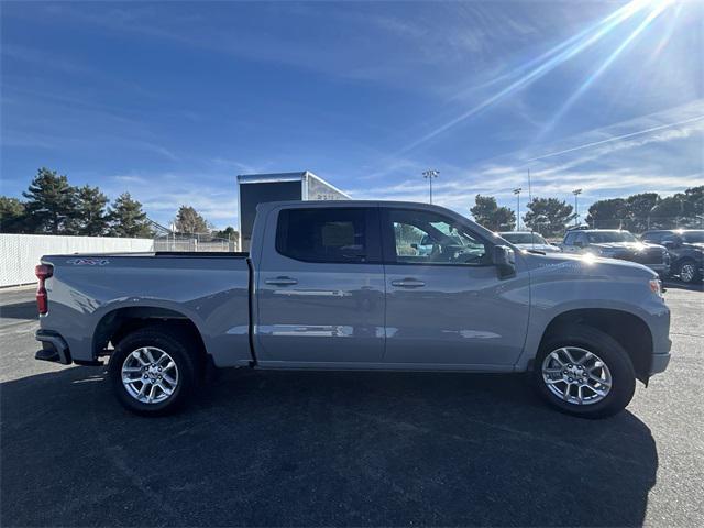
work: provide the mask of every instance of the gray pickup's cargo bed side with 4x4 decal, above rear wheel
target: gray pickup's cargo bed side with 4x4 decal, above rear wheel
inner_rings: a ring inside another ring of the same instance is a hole
[[[188,319],[217,366],[252,361],[248,253],[47,255],[42,262],[56,271],[42,327],[62,329],[70,361],[90,364],[128,315]]]

